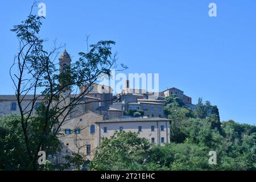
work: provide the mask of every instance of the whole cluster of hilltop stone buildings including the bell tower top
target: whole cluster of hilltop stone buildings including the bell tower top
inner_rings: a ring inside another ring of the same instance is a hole
[[[65,50],[60,58],[60,69],[71,64],[71,57]],[[170,88],[157,94],[146,90],[130,88],[125,81],[122,93],[113,96],[113,89],[106,85],[94,84],[89,93],[81,99],[84,104],[75,107],[60,129],[60,141],[63,146],[63,156],[72,152],[81,152],[88,160],[92,160],[101,137],[109,138],[118,131],[138,132],[139,137],[148,139],[151,143],[163,145],[170,143],[170,120],[164,115],[164,98],[175,94],[185,105],[193,109],[191,97],[183,91]],[[80,88],[80,93],[86,86]],[[69,99],[75,99],[70,94]],[[23,104],[29,105],[33,99],[27,95]],[[36,107],[44,98],[39,97]],[[137,115],[133,115],[137,113]],[[139,113],[139,115],[138,115]],[[15,95],[0,95],[0,118],[5,115],[19,114]]]

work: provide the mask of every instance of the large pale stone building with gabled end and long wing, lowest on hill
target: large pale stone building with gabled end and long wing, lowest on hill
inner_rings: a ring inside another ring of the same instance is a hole
[[[114,131],[138,132],[138,137],[146,138],[151,143],[163,145],[170,143],[170,120],[164,118],[115,118],[86,111],[75,118],[67,119],[60,129],[63,145],[62,156],[78,152],[92,160],[101,137],[109,138]]]

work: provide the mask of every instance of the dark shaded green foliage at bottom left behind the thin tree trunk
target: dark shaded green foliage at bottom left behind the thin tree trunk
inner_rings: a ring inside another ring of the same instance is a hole
[[[32,154],[37,155],[38,143],[44,142],[44,151],[47,155],[54,154],[60,149],[59,139],[49,131],[43,133],[42,115],[34,116],[28,120],[28,138]],[[19,115],[9,115],[0,119],[0,164],[3,170],[29,170],[32,169],[28,158]],[[38,166],[40,169],[40,167]]]

